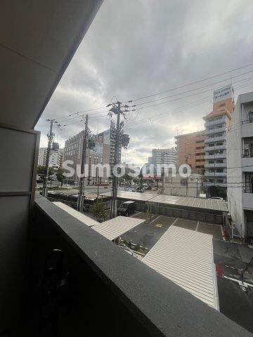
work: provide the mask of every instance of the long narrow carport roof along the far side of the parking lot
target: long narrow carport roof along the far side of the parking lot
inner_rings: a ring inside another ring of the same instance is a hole
[[[110,192],[101,193],[106,197],[110,197]],[[129,199],[135,201],[150,201],[158,204],[168,204],[176,206],[195,207],[197,209],[211,209],[214,211],[228,212],[226,202],[223,200],[209,200],[192,197],[176,197],[172,195],[152,194],[152,193],[136,193],[119,191],[118,198]]]

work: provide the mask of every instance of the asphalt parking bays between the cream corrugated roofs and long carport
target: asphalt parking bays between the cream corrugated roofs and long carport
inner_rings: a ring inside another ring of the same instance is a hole
[[[136,212],[132,217],[146,219],[147,215],[143,212]],[[148,253],[171,225],[212,234],[214,239],[222,240],[220,225],[155,214],[151,217],[150,222],[145,221],[145,223],[141,223],[141,225],[134,227],[133,230],[129,230],[129,232],[122,235],[122,239],[145,247],[145,252]]]

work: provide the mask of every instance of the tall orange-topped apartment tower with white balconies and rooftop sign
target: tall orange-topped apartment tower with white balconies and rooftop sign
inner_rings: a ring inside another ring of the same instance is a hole
[[[233,87],[214,91],[213,110],[205,120],[205,182],[209,197],[226,197],[227,130],[233,112]]]

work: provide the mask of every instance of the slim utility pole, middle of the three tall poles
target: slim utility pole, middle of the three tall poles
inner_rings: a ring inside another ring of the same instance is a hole
[[[79,212],[84,211],[84,183],[85,183],[84,173],[85,173],[85,164],[86,164],[87,138],[88,138],[88,133],[89,133],[88,119],[89,119],[89,115],[86,114],[83,148],[82,148],[82,159],[81,159],[81,176],[79,180],[79,191],[78,191],[78,199],[77,199],[77,211]]]

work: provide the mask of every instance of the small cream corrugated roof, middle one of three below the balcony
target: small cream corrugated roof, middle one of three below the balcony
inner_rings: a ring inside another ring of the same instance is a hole
[[[117,216],[116,218],[105,221],[104,223],[99,223],[92,228],[104,237],[107,237],[109,240],[113,240],[131,230],[131,228],[140,225],[140,223],[144,223],[144,221],[145,220],[138,218]]]

